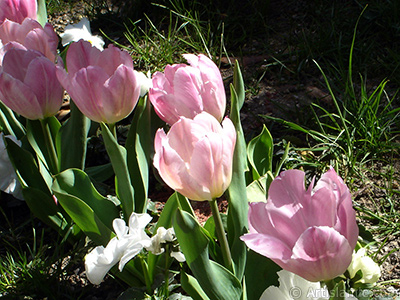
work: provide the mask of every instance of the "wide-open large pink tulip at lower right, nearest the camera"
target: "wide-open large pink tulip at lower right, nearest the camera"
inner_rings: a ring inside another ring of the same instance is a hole
[[[282,172],[267,203],[250,203],[246,245],[309,281],[330,280],[349,266],[358,238],[351,194],[331,168],[313,190],[304,172]]]

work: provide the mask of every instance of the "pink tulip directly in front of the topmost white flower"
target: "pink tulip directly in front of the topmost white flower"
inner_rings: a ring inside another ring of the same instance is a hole
[[[69,46],[67,72],[57,77],[80,111],[96,122],[116,123],[139,99],[140,85],[129,53],[112,45],[104,51],[80,40]]]

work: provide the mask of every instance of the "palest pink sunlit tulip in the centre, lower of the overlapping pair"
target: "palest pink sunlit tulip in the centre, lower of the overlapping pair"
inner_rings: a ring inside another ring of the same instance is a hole
[[[236,131],[231,120],[222,126],[203,112],[181,117],[168,134],[156,133],[154,166],[164,182],[191,200],[220,197],[232,178]]]

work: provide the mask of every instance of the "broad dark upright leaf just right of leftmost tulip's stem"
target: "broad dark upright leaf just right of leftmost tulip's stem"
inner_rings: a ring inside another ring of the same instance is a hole
[[[57,153],[60,171],[70,168],[83,170],[85,167],[87,135],[90,120],[71,101],[71,116],[57,134]],[[73,151],[71,145],[74,146]]]

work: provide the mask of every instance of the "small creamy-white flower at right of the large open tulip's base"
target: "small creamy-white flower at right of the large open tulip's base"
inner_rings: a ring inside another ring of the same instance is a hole
[[[350,278],[353,278],[361,270],[363,273],[363,277],[359,280],[361,283],[375,284],[381,277],[379,265],[367,255],[365,248],[360,248],[353,253],[353,259],[347,270],[350,273]]]

